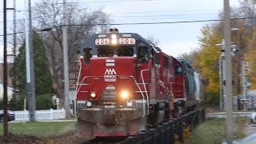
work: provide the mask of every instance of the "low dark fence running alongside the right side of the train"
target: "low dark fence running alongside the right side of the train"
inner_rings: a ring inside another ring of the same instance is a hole
[[[191,130],[198,126],[199,122],[205,122],[205,109],[194,111],[190,114],[183,115],[181,118],[165,122],[162,126],[149,130],[146,133],[129,137],[119,144],[174,144],[184,142],[190,137]]]

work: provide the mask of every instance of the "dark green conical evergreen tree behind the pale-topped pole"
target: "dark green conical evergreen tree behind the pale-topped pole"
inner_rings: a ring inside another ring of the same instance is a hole
[[[34,74],[35,74],[35,94],[38,95],[53,94],[53,82],[50,76],[49,60],[46,58],[46,50],[42,44],[40,36],[33,33],[34,44]],[[15,58],[18,81],[18,90],[20,98],[18,101],[23,101],[22,95],[26,95],[26,50],[25,42],[18,48],[18,56]],[[14,66],[10,67],[10,77],[14,77]],[[50,98],[51,99],[51,98]]]

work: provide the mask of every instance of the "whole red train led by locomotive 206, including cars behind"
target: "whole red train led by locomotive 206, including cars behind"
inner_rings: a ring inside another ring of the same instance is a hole
[[[77,73],[76,129],[98,137],[129,136],[193,110],[200,83],[184,61],[134,33],[94,34]]]

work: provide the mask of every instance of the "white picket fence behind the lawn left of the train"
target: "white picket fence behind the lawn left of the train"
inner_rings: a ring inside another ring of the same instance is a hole
[[[70,112],[71,112],[71,110],[70,110]],[[15,114],[15,120],[29,120],[30,119],[30,112],[28,110],[14,111],[14,114]],[[36,118],[36,120],[61,119],[61,118],[66,118],[66,112],[64,109],[61,109],[61,110],[53,110],[53,109],[36,110],[35,118]]]

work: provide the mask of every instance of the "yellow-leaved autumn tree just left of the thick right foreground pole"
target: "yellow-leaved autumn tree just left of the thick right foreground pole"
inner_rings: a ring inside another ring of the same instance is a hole
[[[193,62],[193,66],[198,65],[200,68],[203,83],[206,85],[204,94],[206,102],[215,104],[218,103],[219,92],[218,58],[220,48],[216,46],[222,39],[219,35],[221,34],[218,34],[218,24],[202,28],[202,38],[199,38],[201,50]]]

